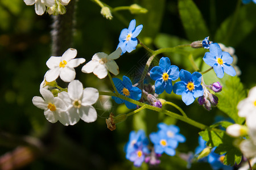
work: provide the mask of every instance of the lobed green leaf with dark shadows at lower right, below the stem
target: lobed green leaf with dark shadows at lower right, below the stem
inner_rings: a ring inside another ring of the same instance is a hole
[[[239,164],[242,159],[241,151],[233,146],[234,139],[229,137],[222,130],[207,129],[199,133],[207,145],[210,147],[217,147],[214,152],[217,154],[225,154],[224,164],[233,166],[235,163]]]

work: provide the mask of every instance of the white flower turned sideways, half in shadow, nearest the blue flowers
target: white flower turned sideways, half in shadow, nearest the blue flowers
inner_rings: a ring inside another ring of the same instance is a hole
[[[108,70],[114,75],[119,74],[119,67],[113,59],[121,56],[122,49],[118,48],[113,53],[96,53],[93,55],[92,60],[82,67],[82,72],[95,74],[98,78],[103,79],[108,75]]]

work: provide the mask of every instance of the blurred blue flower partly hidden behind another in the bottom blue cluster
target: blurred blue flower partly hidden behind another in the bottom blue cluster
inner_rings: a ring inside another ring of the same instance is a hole
[[[162,130],[166,133],[168,138],[174,139],[177,142],[184,143],[186,138],[184,135],[180,134],[180,128],[175,125],[166,125],[164,123],[158,124],[159,130]]]

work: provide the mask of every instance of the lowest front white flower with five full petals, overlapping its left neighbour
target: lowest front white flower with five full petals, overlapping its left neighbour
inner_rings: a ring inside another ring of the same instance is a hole
[[[96,88],[83,89],[79,80],[73,80],[68,84],[68,92],[60,92],[59,97],[67,105],[69,125],[75,125],[80,118],[85,122],[94,122],[97,119],[97,112],[92,104],[98,100]]]

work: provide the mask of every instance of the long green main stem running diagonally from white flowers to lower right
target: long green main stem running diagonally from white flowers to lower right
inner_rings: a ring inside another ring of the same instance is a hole
[[[174,112],[171,112],[171,111],[167,111],[166,109],[162,109],[162,108],[154,107],[152,105],[141,103],[137,100],[130,99],[129,97],[126,97],[126,96],[123,96],[123,95],[120,95],[120,94],[115,94],[113,92],[101,92],[101,91],[99,92],[99,94],[100,95],[106,95],[106,96],[119,97],[123,100],[126,100],[126,101],[129,101],[131,103],[137,104],[141,107],[144,106],[145,109],[150,109],[150,110],[156,111],[156,112],[163,112],[164,114],[166,114],[168,116],[171,116],[171,117],[176,118],[178,120],[184,121],[187,124],[195,126],[196,128],[199,128],[199,129],[208,129],[209,128],[208,126],[206,126],[204,124],[200,124],[199,122],[196,122],[196,121],[192,120],[191,118],[181,116],[180,114],[177,114],[177,113],[174,113]]]

